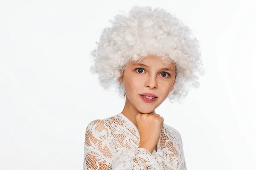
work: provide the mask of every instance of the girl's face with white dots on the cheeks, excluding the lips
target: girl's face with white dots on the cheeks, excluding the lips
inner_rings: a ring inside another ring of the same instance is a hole
[[[119,78],[125,88],[126,102],[130,102],[141,113],[154,111],[173,89],[175,67],[174,62],[166,65],[162,59],[151,55],[140,61],[129,61]],[[157,98],[154,102],[145,102],[140,96],[144,93],[154,94]]]

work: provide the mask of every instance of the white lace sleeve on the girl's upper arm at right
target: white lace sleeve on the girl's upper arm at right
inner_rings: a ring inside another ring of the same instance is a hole
[[[163,170],[187,170],[180,133],[172,127],[164,130],[160,141],[162,152],[157,160]]]

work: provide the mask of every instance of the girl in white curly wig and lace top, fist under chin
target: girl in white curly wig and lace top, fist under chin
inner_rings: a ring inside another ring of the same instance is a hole
[[[164,9],[116,15],[92,51],[93,74],[125,97],[121,113],[87,125],[84,170],[186,170],[180,133],[155,109],[180,102],[204,74],[198,40]]]

